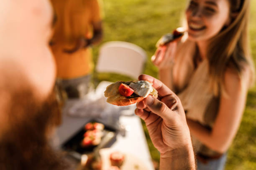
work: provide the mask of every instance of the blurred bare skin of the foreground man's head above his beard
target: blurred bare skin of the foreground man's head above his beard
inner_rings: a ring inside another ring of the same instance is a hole
[[[0,13],[1,74],[31,85],[43,100],[55,79],[54,59],[48,47],[51,5],[48,0],[2,0]]]

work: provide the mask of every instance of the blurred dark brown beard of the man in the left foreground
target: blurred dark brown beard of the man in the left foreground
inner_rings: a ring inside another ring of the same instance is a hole
[[[8,128],[0,137],[1,170],[64,170],[62,155],[48,143],[49,132],[59,123],[54,93],[38,103],[29,90],[13,92],[6,112]]]

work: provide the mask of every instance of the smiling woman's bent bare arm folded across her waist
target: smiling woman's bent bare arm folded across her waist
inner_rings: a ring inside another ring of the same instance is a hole
[[[246,103],[249,70],[243,74],[246,82],[241,85],[237,74],[227,70],[225,72],[225,90],[227,95],[220,96],[220,107],[212,131],[192,120],[187,120],[190,132],[207,147],[219,153],[228,150],[239,128]]]

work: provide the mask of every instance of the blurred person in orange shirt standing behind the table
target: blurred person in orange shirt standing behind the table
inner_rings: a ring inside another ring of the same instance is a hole
[[[51,49],[57,66],[56,84],[69,98],[79,98],[90,87],[92,45],[102,40],[102,18],[97,0],[51,0],[56,22]]]

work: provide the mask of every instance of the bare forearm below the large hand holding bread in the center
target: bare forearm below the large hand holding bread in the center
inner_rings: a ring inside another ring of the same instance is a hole
[[[160,155],[159,170],[196,170],[192,145]]]

